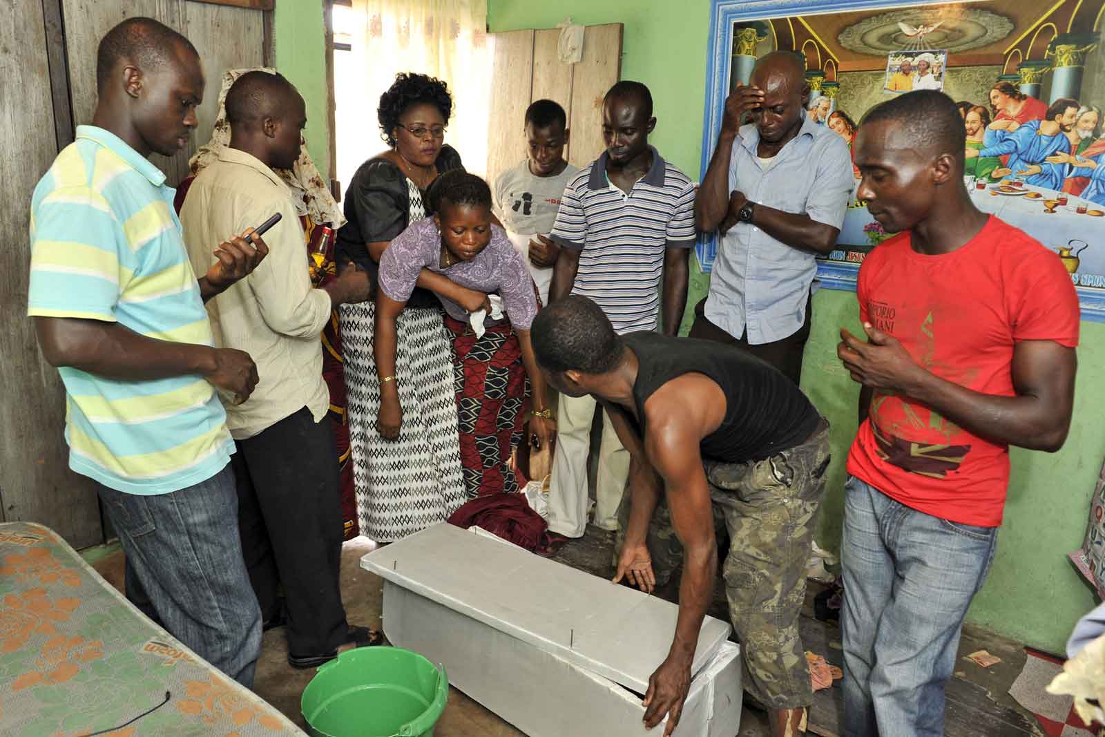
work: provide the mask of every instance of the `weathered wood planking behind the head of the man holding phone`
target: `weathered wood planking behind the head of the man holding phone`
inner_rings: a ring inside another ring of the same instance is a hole
[[[96,107],[96,46],[104,33],[125,18],[146,15],[159,20],[188,36],[200,52],[207,88],[197,113],[199,126],[187,149],[168,159],[157,155],[151,158],[165,171],[169,185],[175,186],[188,176],[188,159],[211,137],[223,73],[228,69],[264,64],[262,12],[193,0],[129,0],[125,4],[63,0],[63,9],[65,18],[82,21],[65,27],[73,118],[77,125],[90,122]]]

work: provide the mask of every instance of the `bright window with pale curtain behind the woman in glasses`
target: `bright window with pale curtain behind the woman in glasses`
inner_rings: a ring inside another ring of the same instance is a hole
[[[494,39],[486,0],[352,0],[335,6],[337,176],[347,186],[366,159],[386,150],[376,108],[399,72],[444,81],[453,96],[445,143],[469,171],[484,175]]]

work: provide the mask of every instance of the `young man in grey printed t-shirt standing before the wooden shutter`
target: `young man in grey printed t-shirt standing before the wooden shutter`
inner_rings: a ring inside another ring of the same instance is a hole
[[[492,188],[495,215],[514,248],[529,265],[541,304],[548,304],[552,265],[560,246],[548,239],[564,188],[578,171],[564,158],[568,116],[551,99],[538,99],[526,109],[527,155],[499,175]]]

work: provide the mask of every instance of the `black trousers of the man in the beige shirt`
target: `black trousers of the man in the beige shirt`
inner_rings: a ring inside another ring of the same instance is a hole
[[[282,586],[288,653],[332,652],[349,625],[338,583],[341,501],[329,422],[315,422],[304,407],[235,444],[238,528],[261,615],[278,613]]]

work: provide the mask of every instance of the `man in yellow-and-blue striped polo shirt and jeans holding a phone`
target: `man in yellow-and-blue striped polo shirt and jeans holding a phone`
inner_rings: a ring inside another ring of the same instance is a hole
[[[70,466],[97,484],[126,554],[127,596],[252,686],[261,611],[238,536],[233,441],[217,389],[245,401],[253,360],[212,344],[203,309],[267,253],[212,243],[198,282],[173,190],[147,160],[196,127],[196,49],[148,18],[108,31],[93,125],[78,126],[31,200],[28,314],[65,385]]]

